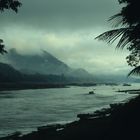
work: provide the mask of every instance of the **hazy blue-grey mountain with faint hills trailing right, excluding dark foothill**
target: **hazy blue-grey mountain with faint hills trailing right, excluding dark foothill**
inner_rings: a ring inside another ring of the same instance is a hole
[[[52,79],[55,81],[61,81],[62,77],[64,82],[134,82],[135,78],[127,78],[126,75],[110,75],[110,74],[96,74],[94,76],[88,73],[84,69],[73,69],[69,67],[64,62],[57,59],[55,56],[51,55],[47,51],[42,51],[42,54],[38,55],[23,55],[19,54],[15,49],[8,51],[7,55],[3,58],[5,62],[8,62],[11,66],[15,68],[15,71],[19,71],[22,74],[28,75],[25,79],[43,79],[46,81],[44,75],[55,75]],[[6,68],[7,69],[7,68]],[[29,78],[29,75],[34,75],[34,78]],[[42,75],[42,76],[41,76]],[[56,77],[58,76],[58,77]],[[24,75],[25,77],[25,75]],[[36,77],[36,78],[35,78]],[[49,76],[50,78],[50,76]],[[61,80],[60,80],[61,79]],[[139,80],[138,80],[139,81]]]

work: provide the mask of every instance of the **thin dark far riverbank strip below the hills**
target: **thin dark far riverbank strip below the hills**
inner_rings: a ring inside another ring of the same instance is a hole
[[[11,91],[11,90],[27,90],[27,89],[47,89],[47,88],[68,88],[69,86],[79,87],[92,87],[97,85],[118,85],[115,83],[45,83],[45,82],[11,82],[11,83],[0,83],[0,91]]]

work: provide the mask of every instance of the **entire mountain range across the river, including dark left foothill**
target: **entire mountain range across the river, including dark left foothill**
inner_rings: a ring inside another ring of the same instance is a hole
[[[3,61],[2,61],[3,59]],[[94,73],[94,76],[84,69],[72,69],[64,62],[60,61],[47,51],[42,51],[41,55],[21,55],[15,49],[8,51],[2,56],[0,63],[0,80],[14,81],[23,79],[24,81],[40,82],[139,82],[139,79],[126,75],[111,75],[104,73]],[[5,69],[5,70],[4,70]],[[14,77],[16,77],[14,79]],[[48,80],[47,80],[48,79]]]

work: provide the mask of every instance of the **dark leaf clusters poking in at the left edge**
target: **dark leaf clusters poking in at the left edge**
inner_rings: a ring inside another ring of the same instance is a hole
[[[4,12],[5,10],[13,10],[14,12],[18,12],[18,8],[21,6],[21,3],[18,0],[0,0],[0,12]],[[0,39],[0,53],[4,54],[7,51],[4,49],[5,45],[3,44],[3,40]]]

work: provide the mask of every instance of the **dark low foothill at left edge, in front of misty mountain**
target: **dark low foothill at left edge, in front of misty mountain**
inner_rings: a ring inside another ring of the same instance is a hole
[[[43,75],[43,74],[24,74],[13,68],[9,64],[0,63],[0,87],[2,83],[70,83],[75,79],[64,75]]]

